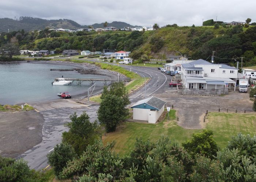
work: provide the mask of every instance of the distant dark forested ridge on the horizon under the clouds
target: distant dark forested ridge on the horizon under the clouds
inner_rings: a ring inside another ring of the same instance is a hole
[[[103,28],[104,23],[95,23],[94,28]],[[59,20],[46,20],[41,18],[22,16],[19,19],[0,18],[0,32],[18,31],[24,29],[25,31],[33,31],[45,28],[64,28],[64,29],[77,29],[88,28],[89,25],[80,25],[73,20],[59,19]],[[130,25],[121,21],[113,21],[108,23],[108,27],[124,28],[124,27],[140,27]]]

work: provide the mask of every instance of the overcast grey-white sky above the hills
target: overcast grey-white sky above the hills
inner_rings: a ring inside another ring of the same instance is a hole
[[[81,25],[124,21],[146,27],[176,23],[202,25],[202,19],[256,22],[256,0],[0,0],[0,18],[20,16],[71,19]],[[0,25],[1,26],[1,25]]]

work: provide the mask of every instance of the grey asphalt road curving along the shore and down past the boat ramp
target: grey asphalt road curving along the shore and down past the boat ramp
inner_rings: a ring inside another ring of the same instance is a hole
[[[151,78],[146,84],[146,96],[153,96],[161,93],[166,85],[166,75],[162,74],[157,68],[151,67],[135,67],[127,65],[119,65],[127,70],[136,72],[142,78]],[[145,98],[145,87],[140,88],[129,96],[131,104]],[[46,155],[54,149],[54,146],[61,142],[61,134],[67,131],[64,124],[69,122],[69,116],[77,113],[82,114],[86,111],[90,117],[90,121],[97,120],[97,110],[99,105],[79,104],[72,100],[55,100],[48,102],[30,103],[36,110],[42,114],[44,118],[42,128],[42,142],[34,146],[19,158],[24,158],[29,162],[31,169],[45,169],[48,166]]]

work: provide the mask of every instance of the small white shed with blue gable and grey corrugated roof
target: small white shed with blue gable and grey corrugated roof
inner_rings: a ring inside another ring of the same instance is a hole
[[[138,101],[133,104],[133,119],[156,123],[165,110],[166,102],[155,96]]]

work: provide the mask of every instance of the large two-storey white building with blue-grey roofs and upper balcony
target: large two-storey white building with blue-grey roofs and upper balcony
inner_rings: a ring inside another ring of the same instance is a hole
[[[223,90],[235,86],[238,69],[199,59],[181,64],[181,74],[183,88]]]

